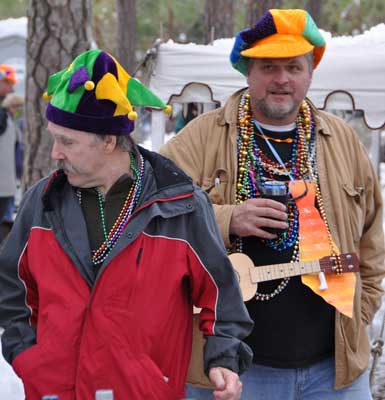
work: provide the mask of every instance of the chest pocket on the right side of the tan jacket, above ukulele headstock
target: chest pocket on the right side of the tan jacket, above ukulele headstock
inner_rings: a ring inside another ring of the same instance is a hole
[[[350,229],[355,243],[360,241],[365,224],[365,188],[343,183],[342,188],[346,197]]]

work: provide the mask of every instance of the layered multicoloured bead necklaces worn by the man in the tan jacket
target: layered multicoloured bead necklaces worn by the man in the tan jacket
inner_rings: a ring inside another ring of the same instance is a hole
[[[254,123],[250,110],[250,95],[244,93],[241,97],[238,109],[238,177],[236,204],[241,204],[247,199],[260,196],[260,188],[266,180],[275,179],[276,175],[290,175],[294,179],[302,179],[311,175],[317,179],[315,161],[315,130],[311,110],[306,101],[303,101],[296,119],[296,131],[293,138],[290,160],[285,163],[285,168],[276,161],[271,160],[259,148],[254,130]],[[319,192],[320,195],[320,192]],[[288,204],[288,229],[276,239],[262,242],[282,252],[293,248],[291,262],[299,260],[299,214],[295,202]],[[236,242],[237,251],[242,252],[242,239]],[[278,287],[271,293],[256,292],[256,300],[270,300],[277,296],[287,286],[290,278],[281,281]]]

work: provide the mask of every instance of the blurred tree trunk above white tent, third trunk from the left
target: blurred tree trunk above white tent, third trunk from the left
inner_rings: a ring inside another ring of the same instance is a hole
[[[206,0],[205,43],[234,36],[234,1]]]

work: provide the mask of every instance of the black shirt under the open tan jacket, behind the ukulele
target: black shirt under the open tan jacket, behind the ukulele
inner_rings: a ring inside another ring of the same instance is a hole
[[[294,131],[264,132],[282,139],[294,136]],[[264,139],[257,137],[256,140],[263,152],[274,160]],[[284,162],[290,159],[292,144],[271,143]],[[257,237],[244,238],[243,251],[256,266],[286,263],[292,257],[292,248],[278,252],[265,246]],[[280,282],[260,283],[258,292],[271,293]],[[334,308],[303,285],[299,276],[290,278],[287,287],[273,299],[257,301],[253,298],[246,306],[255,327],[245,341],[254,352],[255,363],[276,368],[301,368],[333,354]]]

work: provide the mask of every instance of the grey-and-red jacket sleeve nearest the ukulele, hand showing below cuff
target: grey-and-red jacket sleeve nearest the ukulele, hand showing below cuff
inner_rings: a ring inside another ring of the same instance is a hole
[[[242,373],[252,361],[242,342],[252,330],[235,271],[220,238],[207,195],[195,190],[196,211],[191,214],[189,255],[192,300],[201,308],[200,330],[206,337],[205,372],[221,366]]]

